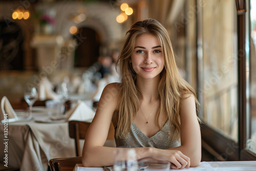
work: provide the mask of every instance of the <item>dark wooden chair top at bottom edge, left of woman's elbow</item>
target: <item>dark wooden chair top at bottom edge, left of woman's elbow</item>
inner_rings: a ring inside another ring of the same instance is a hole
[[[52,171],[72,171],[76,164],[82,164],[82,157],[51,159],[49,164]]]

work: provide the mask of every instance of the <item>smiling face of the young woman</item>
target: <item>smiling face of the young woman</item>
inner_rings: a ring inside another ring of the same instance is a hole
[[[159,76],[164,60],[158,38],[152,34],[140,35],[135,42],[131,59],[137,78],[151,79]]]

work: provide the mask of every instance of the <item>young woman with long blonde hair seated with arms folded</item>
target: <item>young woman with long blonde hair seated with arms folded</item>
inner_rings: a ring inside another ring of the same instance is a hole
[[[111,122],[117,147],[138,159],[197,166],[201,135],[196,93],[180,76],[166,29],[154,19],[135,23],[119,55],[121,83],[105,87],[84,141],[84,166],[113,165],[117,148],[104,147]]]

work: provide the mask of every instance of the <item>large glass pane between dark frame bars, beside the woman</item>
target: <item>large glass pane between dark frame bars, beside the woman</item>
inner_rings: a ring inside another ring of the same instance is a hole
[[[202,1],[198,92],[201,118],[238,142],[237,11],[233,0]]]

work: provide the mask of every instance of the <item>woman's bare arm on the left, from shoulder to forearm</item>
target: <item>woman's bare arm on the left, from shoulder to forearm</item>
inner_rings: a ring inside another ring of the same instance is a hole
[[[99,100],[95,117],[89,127],[82,151],[84,166],[112,165],[115,148],[104,147],[112,116],[117,108],[117,84],[105,87]]]

